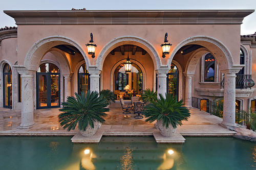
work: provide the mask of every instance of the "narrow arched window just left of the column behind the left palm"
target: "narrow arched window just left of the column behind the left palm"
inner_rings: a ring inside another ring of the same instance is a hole
[[[90,75],[86,69],[86,64],[82,64],[78,70],[78,94],[83,91],[87,93],[90,89]]]

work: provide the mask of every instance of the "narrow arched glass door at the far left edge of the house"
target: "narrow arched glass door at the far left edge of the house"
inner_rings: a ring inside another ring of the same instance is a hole
[[[4,77],[4,107],[12,108],[12,69],[9,64],[5,64],[3,70]]]

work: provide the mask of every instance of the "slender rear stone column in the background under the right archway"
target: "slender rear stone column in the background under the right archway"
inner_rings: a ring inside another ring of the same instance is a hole
[[[183,72],[186,84],[185,84],[185,107],[190,108],[191,107],[191,100],[192,100],[192,77],[194,74],[187,74]]]

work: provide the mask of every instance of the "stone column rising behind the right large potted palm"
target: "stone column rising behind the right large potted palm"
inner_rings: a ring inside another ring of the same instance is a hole
[[[162,94],[165,98],[165,93],[167,92],[167,73],[169,71],[168,67],[159,68],[157,72],[157,98],[159,94]]]

